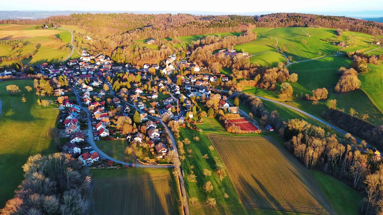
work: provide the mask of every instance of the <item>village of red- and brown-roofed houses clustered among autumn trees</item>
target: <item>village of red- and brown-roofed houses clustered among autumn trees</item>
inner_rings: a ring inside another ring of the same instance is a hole
[[[232,50],[221,52],[229,56],[234,53]],[[188,61],[188,57],[179,59],[176,53],[164,59],[162,65],[126,64],[123,67],[115,66],[107,56],[83,50],[80,59],[69,60],[66,65],[44,63],[36,65],[34,71],[65,83],[53,86],[55,102],[61,109],[58,128],[61,136],[68,140],[62,149],[88,166],[93,163],[100,166],[101,160],[113,163],[96,142],[118,139],[126,139],[133,156],[133,162],[120,163],[170,165],[172,162],[166,157],[176,149],[172,145],[175,141],[170,137],[173,136],[171,129],[165,129],[165,123],[174,121],[179,126],[196,129],[197,123],[203,123],[201,118],[208,115],[208,110],[204,111],[197,101],[219,93],[213,87],[217,82],[229,81],[228,76],[214,75],[206,67],[200,68]],[[15,72],[7,69],[0,75],[27,77],[25,73]],[[239,114],[239,107],[230,104],[228,99],[220,96],[216,105],[225,112]],[[260,132],[254,120],[250,122],[241,117],[229,121],[245,131],[250,131],[250,127]],[[273,131],[268,126],[267,129]],[[149,156],[142,159],[138,148],[146,150]]]

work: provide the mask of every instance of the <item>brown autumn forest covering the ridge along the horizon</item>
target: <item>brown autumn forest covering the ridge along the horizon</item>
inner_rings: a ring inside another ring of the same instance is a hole
[[[134,13],[75,13],[69,16],[51,16],[40,20],[0,20],[0,24],[46,24],[77,25],[85,29],[93,40],[89,41],[88,51],[105,55],[130,50],[130,54],[118,59],[126,63],[142,64],[163,60],[169,52],[173,52],[168,43],[179,42],[157,40],[159,50],[152,50],[137,45],[139,39],[160,39],[166,37],[180,37],[198,34],[223,32],[249,32],[255,27],[299,27],[321,26],[326,28],[348,29],[373,35],[383,34],[383,23],[359,20],[341,16],[321,16],[302,13],[273,13],[262,16],[195,16],[190,14],[134,14]],[[75,36],[83,36],[75,33]],[[241,39],[242,38],[242,39]],[[245,37],[237,37],[244,41]],[[254,37],[255,39],[255,37]],[[226,39],[229,41],[230,39]],[[200,41],[198,41],[200,42]],[[75,41],[77,44],[77,41]],[[231,44],[238,44],[233,43]],[[192,44],[186,49],[193,50],[206,44]],[[120,50],[118,50],[120,49]],[[124,51],[121,51],[124,50]],[[133,50],[133,52],[131,51]],[[148,56],[154,56],[148,60]],[[140,60],[141,59],[141,60]],[[142,60],[144,59],[144,60]]]

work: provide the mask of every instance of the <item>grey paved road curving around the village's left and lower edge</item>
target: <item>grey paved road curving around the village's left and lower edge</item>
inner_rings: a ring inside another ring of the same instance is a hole
[[[120,163],[122,165],[131,165],[131,163],[126,163],[126,162],[123,162],[123,161],[119,161],[115,158],[112,158],[111,156],[107,155],[106,153],[104,153],[102,150],[100,150],[100,148],[98,148],[98,146],[96,145],[96,142],[95,140],[93,139],[94,136],[93,136],[93,129],[92,129],[92,115],[90,115],[90,112],[88,111],[88,108],[85,108],[82,106],[81,104],[81,101],[80,101],[80,98],[79,96],[77,96],[79,94],[79,92],[75,91],[74,88],[72,88],[75,96],[76,96],[76,99],[77,99],[77,103],[79,103],[79,106],[80,108],[85,111],[85,113],[87,113],[87,118],[88,118],[88,135],[89,137],[87,138],[87,141],[90,145],[92,145],[92,148],[97,151],[98,155],[100,155],[101,157],[105,158],[105,159],[108,159],[108,160],[111,160],[113,162],[116,162],[116,163]],[[167,166],[163,166],[163,165],[143,165],[143,164],[135,164],[136,167],[146,167],[146,168],[173,168],[173,165],[167,165]]]

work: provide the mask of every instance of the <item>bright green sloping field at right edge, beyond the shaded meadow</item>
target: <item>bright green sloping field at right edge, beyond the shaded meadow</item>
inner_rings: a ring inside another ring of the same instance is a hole
[[[367,73],[358,76],[362,82],[360,88],[383,111],[383,67],[373,64],[369,64],[369,67]]]

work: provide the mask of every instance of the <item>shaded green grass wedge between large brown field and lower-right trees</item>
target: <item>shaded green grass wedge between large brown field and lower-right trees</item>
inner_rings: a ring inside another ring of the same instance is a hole
[[[325,173],[315,170],[310,170],[310,173],[316,178],[319,187],[337,214],[360,214],[362,195],[358,191]]]

